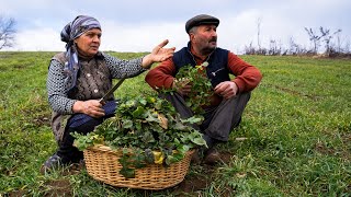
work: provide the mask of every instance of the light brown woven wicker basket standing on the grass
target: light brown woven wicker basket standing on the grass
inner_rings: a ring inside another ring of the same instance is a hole
[[[184,179],[193,152],[189,151],[182,161],[170,166],[148,164],[146,167],[136,169],[134,178],[120,174],[122,165],[118,159],[122,152],[112,151],[106,146],[95,146],[86,149],[83,153],[88,174],[94,179],[118,187],[163,189]]]

